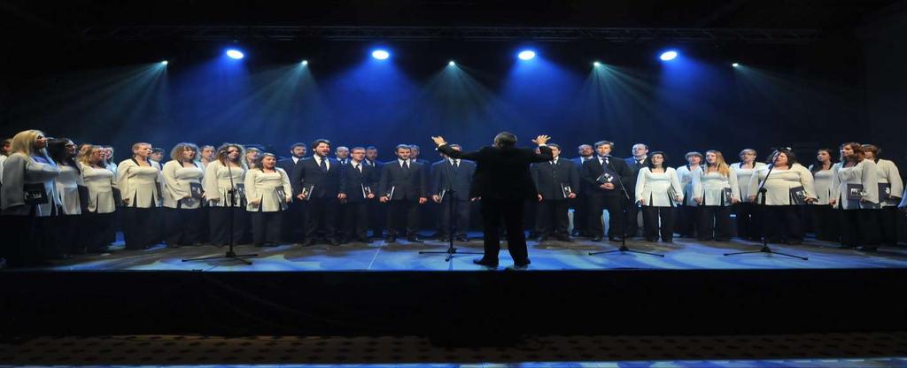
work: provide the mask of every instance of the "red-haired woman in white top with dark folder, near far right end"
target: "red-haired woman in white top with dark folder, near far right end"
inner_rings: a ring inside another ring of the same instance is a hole
[[[875,161],[866,160],[857,142],[841,145],[841,163],[834,165],[832,199],[840,208],[841,244],[875,250],[882,241],[879,233],[879,174]]]

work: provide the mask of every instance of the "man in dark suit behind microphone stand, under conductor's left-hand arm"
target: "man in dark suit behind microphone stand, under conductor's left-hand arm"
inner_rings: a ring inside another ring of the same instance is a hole
[[[450,145],[453,150],[462,151],[459,144]],[[469,228],[470,198],[469,187],[475,172],[475,163],[472,161],[453,159],[442,153],[444,160],[432,164],[431,189],[432,200],[441,204],[438,208],[439,228],[441,241],[448,241],[454,237],[457,241],[466,241],[466,230]],[[451,206],[455,234],[450,233]]]

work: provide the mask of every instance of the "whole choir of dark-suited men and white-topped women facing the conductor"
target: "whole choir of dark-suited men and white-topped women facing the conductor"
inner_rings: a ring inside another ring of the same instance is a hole
[[[306,157],[307,147],[295,143],[292,157],[278,161],[239,144],[184,142],[163,162],[163,150],[138,142],[131,157],[114,164],[110,146],[19,132],[0,150],[0,225],[8,239],[0,257],[9,266],[33,266],[104,252],[117,228],[126,249],[161,241],[168,247],[367,243],[368,230],[387,242],[398,236],[421,242],[416,232],[429,200],[442,207],[438,235],[466,240],[473,162],[443,153],[429,162],[409,144],[396,146],[389,162],[377,160],[374,146],[332,150],[329,140],[316,140]],[[869,144],[842,144],[837,162],[832,150],[818,150],[809,168],[789,149],[775,150],[766,162],[756,160],[756,150],[741,150],[733,164],[717,150],[691,151],[675,169],[664,152],[649,154],[642,143],[627,160],[612,157],[607,140],[580,145],[576,159],[561,158],[557,144],[549,147],[553,160],[531,167],[540,242],[571,241],[571,224],[573,237],[634,237],[639,211],[650,242],[671,243],[678,233],[701,241],[766,237],[800,244],[812,228],[817,239],[872,251],[896,245],[898,208],[907,208],[898,168]]]

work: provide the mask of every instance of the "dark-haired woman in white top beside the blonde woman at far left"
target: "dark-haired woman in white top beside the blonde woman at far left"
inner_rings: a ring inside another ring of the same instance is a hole
[[[60,218],[57,219],[56,235],[61,239],[52,253],[67,258],[73,254],[84,254],[85,247],[80,238],[80,229],[84,228],[82,208],[87,200],[85,185],[82,181],[82,170],[75,162],[76,145],[67,138],[55,138],[47,143],[47,153],[57,163],[60,176],[56,179],[57,194],[63,204]]]

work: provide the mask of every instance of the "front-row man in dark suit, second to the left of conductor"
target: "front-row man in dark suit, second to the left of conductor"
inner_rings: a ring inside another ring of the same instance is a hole
[[[406,240],[422,243],[416,233],[419,231],[419,205],[427,198],[425,167],[410,160],[411,149],[408,145],[396,147],[397,160],[385,163],[381,169],[378,194],[381,203],[389,203],[387,213],[387,243],[396,241],[397,231],[405,225]]]

